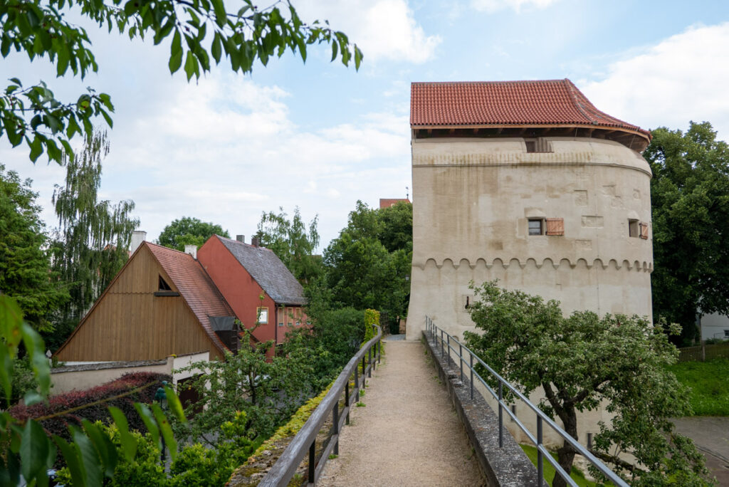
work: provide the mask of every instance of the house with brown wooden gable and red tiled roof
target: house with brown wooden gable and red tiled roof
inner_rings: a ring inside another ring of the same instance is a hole
[[[235,313],[190,254],[142,242],[55,357],[63,362],[163,359],[238,349]]]

